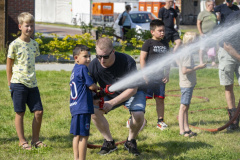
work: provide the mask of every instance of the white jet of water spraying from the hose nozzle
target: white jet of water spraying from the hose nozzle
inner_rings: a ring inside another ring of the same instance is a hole
[[[218,28],[215,32],[207,35],[205,38],[199,39],[196,42],[187,44],[179,48],[178,51],[174,54],[170,53],[164,57],[152,61],[151,65],[143,68],[140,71],[130,73],[122,80],[114,83],[109,88],[109,91],[121,91],[132,86],[145,85],[145,81],[142,81],[143,76],[147,76],[150,78],[154,77],[156,74],[159,73],[161,69],[163,69],[165,66],[171,65],[171,63],[175,62],[182,56],[198,53],[200,46],[214,46],[218,42],[221,43],[224,42],[226,39],[232,39],[232,37],[237,36],[236,33],[239,32],[239,25],[240,23],[238,22],[231,24],[231,26]]]

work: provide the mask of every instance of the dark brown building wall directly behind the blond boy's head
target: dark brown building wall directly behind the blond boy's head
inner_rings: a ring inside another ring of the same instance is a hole
[[[2,1],[2,0],[0,0]],[[35,15],[34,11],[35,0],[7,0],[6,7],[6,42],[10,43],[15,38],[11,35],[12,33],[17,33],[18,29],[18,21],[17,16],[22,12],[29,12],[32,15]]]

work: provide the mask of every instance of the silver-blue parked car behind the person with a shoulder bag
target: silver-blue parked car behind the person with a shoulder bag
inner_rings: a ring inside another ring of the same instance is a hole
[[[157,19],[157,17],[154,14],[146,11],[130,11],[129,15],[130,15],[131,28],[135,28],[137,31],[139,29],[150,30],[150,22],[153,19]],[[122,26],[118,25],[118,22],[121,16],[122,16],[122,13],[119,14],[117,20],[113,24],[113,29],[115,30],[115,34],[119,37],[122,37],[123,35]]]

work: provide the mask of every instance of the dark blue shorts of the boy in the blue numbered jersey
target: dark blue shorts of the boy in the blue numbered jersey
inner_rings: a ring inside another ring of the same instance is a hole
[[[91,114],[77,114],[72,117],[70,133],[73,135],[89,136]]]

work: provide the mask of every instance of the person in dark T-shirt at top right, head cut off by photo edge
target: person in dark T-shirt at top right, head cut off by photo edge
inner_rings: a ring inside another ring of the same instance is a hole
[[[214,12],[220,12],[221,14],[221,22],[223,24],[226,20],[226,17],[230,15],[233,11],[238,11],[238,6],[233,4],[233,0],[226,0],[226,4],[218,5],[214,8]]]

